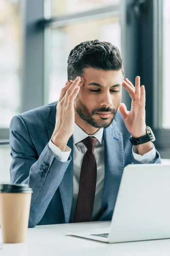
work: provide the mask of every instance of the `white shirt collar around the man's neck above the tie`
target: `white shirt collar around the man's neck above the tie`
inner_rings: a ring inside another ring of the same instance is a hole
[[[74,132],[73,132],[73,143],[76,144],[76,143],[84,140],[88,136],[91,136],[91,137],[93,136],[93,137],[95,137],[99,141],[100,144],[102,144],[103,130],[104,130],[104,128],[100,128],[95,134],[88,135],[88,134],[85,133],[85,131],[83,131],[77,125],[77,123],[75,123],[75,125],[74,125]]]

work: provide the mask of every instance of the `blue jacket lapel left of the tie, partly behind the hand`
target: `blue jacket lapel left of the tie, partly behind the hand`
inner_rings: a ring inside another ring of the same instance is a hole
[[[56,116],[56,105],[51,112],[51,116],[49,118],[49,122],[55,125],[55,116]],[[54,128],[48,131],[49,140],[51,139],[51,135],[53,134]],[[65,223],[69,223],[70,213],[71,213],[71,204],[73,198],[73,136],[70,137],[67,143],[68,147],[71,148],[71,162],[65,171],[65,175],[62,179],[62,182],[59,185],[59,191],[62,199],[62,205],[65,214]]]

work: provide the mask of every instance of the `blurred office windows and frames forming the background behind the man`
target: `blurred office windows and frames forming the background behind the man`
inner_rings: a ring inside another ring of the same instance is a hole
[[[14,115],[59,98],[70,50],[96,38],[119,47],[125,77],[141,76],[146,123],[170,158],[170,0],[0,0],[0,140]]]

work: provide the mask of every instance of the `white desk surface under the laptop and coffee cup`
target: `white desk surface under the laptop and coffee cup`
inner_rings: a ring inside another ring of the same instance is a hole
[[[0,256],[169,256],[170,239],[107,244],[65,236],[67,231],[107,228],[110,221],[29,228],[25,244],[3,244]]]

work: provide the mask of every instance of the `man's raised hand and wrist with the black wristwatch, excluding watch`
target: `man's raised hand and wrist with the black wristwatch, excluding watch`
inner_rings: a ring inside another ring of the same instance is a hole
[[[119,106],[119,111],[123,116],[125,125],[130,134],[139,138],[146,135],[145,123],[145,89],[144,85],[140,87],[140,77],[135,79],[135,87],[128,80],[123,81],[122,86],[125,87],[132,99],[131,110],[127,113],[127,108],[124,103]],[[144,143],[136,146],[138,153],[143,155],[152,149],[152,143]]]

